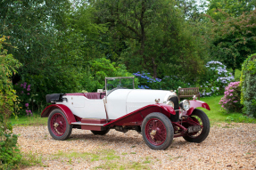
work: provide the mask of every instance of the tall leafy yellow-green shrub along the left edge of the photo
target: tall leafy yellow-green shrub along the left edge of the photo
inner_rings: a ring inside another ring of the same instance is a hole
[[[17,146],[18,136],[12,134],[12,124],[7,118],[14,114],[13,102],[17,96],[12,88],[12,74],[21,67],[21,63],[7,53],[4,45],[5,36],[0,37],[0,169],[12,169],[21,160],[20,150]]]

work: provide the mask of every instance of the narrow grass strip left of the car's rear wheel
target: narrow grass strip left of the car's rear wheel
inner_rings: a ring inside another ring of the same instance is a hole
[[[34,114],[33,117],[11,117],[9,121],[12,125],[47,125],[48,117],[41,117],[41,115]]]

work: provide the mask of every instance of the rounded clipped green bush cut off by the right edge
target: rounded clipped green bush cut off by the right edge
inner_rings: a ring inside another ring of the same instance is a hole
[[[256,53],[244,61],[240,81],[243,112],[247,116],[256,117]]]

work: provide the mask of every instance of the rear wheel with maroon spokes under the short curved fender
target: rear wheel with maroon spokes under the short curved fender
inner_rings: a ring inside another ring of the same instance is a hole
[[[59,123],[59,125],[56,127],[54,126],[55,123]],[[61,128],[61,132],[59,132],[58,128]],[[48,117],[48,130],[55,140],[63,141],[70,137],[72,125],[69,125],[68,119],[61,109],[54,109],[50,113]]]

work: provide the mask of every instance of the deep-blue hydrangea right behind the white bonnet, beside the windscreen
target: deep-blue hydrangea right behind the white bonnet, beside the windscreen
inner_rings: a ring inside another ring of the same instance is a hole
[[[161,79],[160,78],[153,78],[150,76],[150,73],[139,71],[133,73],[134,76],[138,77],[139,84],[138,88],[140,89],[161,89]]]

